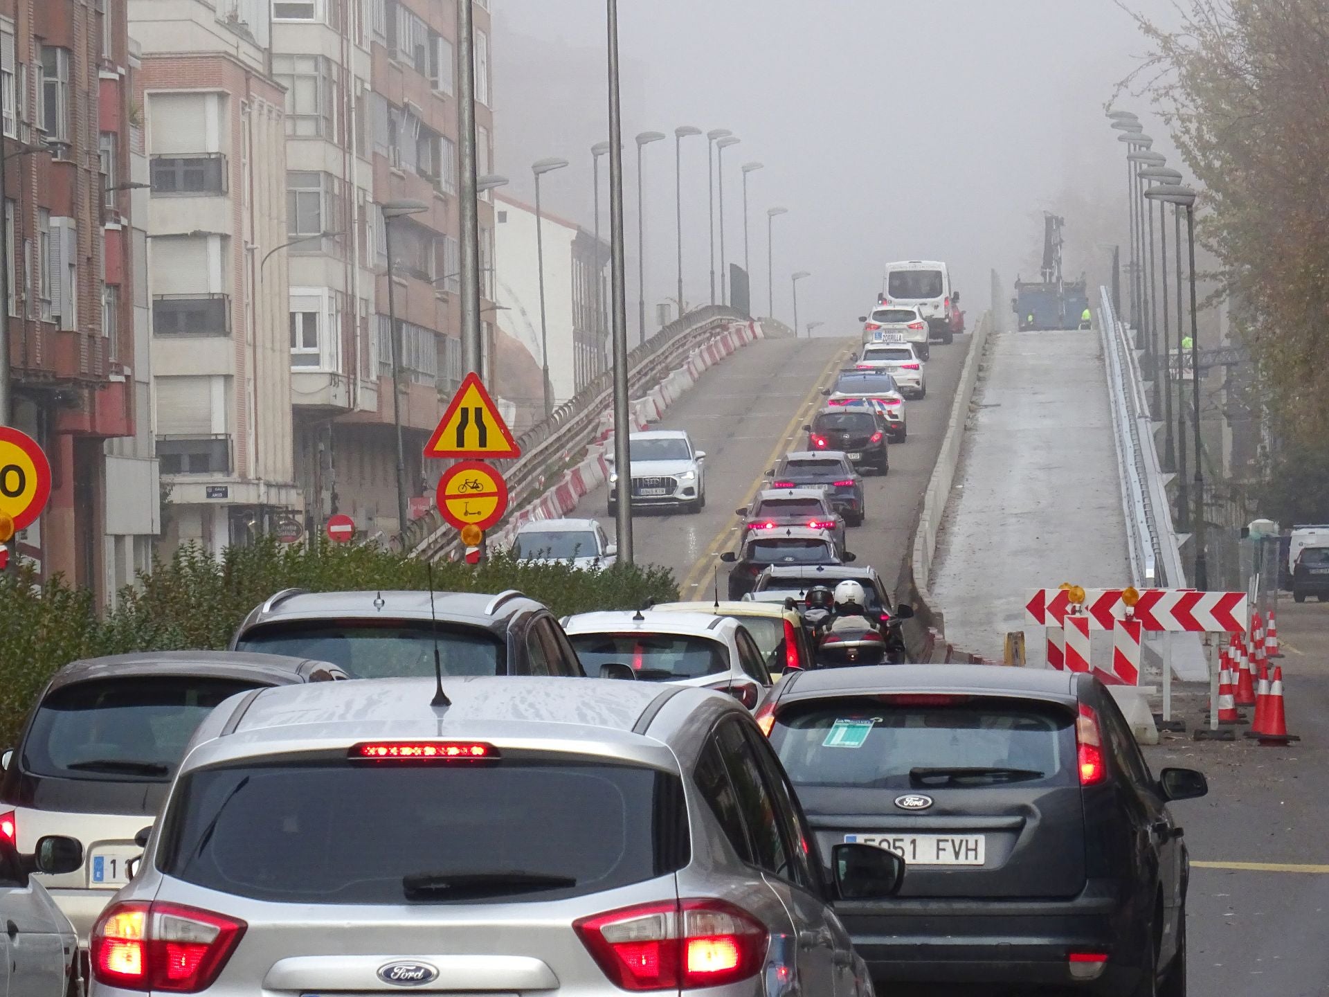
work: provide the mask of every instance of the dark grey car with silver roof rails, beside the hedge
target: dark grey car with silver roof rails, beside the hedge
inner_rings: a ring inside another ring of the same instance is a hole
[[[256,606],[231,650],[296,654],[340,665],[355,678],[585,675],[554,614],[509,589],[472,592],[306,592],[286,589]]]

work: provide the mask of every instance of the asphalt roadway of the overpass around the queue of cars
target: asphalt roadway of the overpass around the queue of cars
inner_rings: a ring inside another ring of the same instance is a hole
[[[767,339],[734,354],[711,370],[664,415],[662,429],[687,429],[706,451],[706,509],[695,516],[638,513],[633,520],[635,558],[672,569],[682,598],[707,598],[719,569],[724,597],[727,568],[719,553],[736,548],[735,509],[747,505],[766,472],[784,452],[801,447],[801,427],[821,404],[840,360],[857,346],[852,339]],[[849,530],[848,546],[894,586],[910,542],[914,516],[946,428],[969,335],[953,346],[933,346],[926,366],[928,397],[906,401],[909,439],[890,448],[890,473],[864,481],[868,517]],[[609,536],[605,488],[586,496],[577,514],[598,518]]]

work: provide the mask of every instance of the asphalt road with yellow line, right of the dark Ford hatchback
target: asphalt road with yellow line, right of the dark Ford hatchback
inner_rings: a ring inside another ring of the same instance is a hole
[[[1199,768],[1209,795],[1172,804],[1191,849],[1189,992],[1329,994],[1329,604],[1278,605],[1289,747],[1164,735],[1154,771]],[[1177,698],[1188,731],[1205,690]],[[1249,713],[1249,711],[1247,711]]]

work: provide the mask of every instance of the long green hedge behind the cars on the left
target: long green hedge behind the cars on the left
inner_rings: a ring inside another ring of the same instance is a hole
[[[121,593],[120,608],[100,615],[86,589],[31,572],[0,580],[0,747],[12,744],[43,685],[78,658],[134,650],[225,647],[245,615],[274,592],[427,589],[423,561],[360,545],[323,541],[304,548],[266,540],[230,548],[221,560],[183,546],[155,564],[141,588]],[[615,565],[582,572],[558,564],[521,564],[497,554],[472,568],[433,566],[437,592],[520,589],[557,615],[634,609],[649,598],[678,598],[670,570]]]

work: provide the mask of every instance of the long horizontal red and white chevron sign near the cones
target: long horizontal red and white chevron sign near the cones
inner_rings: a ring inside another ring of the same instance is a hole
[[[1039,589],[1025,605],[1034,626],[1063,626],[1070,614],[1063,589]],[[1126,619],[1120,589],[1086,589],[1084,615],[1092,630],[1111,630]],[[1144,589],[1135,604],[1135,619],[1148,631],[1245,633],[1249,606],[1244,592],[1195,592],[1192,589]]]

